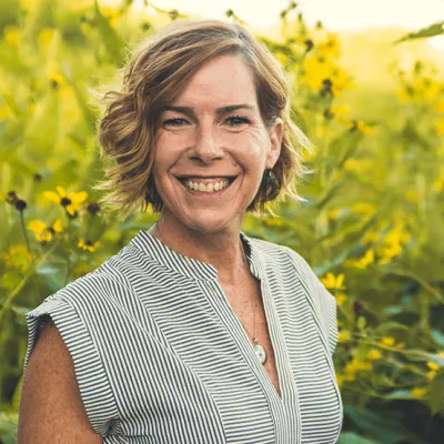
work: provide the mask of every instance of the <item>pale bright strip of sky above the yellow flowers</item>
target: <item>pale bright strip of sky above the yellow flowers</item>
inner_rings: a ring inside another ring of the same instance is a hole
[[[143,0],[135,3],[142,4]],[[279,21],[279,13],[289,6],[289,0],[154,0],[152,3],[214,19],[224,19],[225,11],[233,9],[253,27],[265,28]],[[321,20],[331,31],[390,26],[418,30],[444,21],[444,0],[300,0],[296,3],[309,24]],[[444,51],[444,36],[428,39],[427,44]]]

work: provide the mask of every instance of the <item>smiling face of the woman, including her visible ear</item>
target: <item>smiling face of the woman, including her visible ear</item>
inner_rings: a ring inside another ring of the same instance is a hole
[[[282,121],[265,128],[245,62],[221,56],[204,64],[160,115],[153,178],[163,222],[239,229],[281,141]]]

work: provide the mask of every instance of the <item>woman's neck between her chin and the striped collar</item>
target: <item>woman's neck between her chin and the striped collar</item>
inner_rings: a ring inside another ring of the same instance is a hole
[[[164,245],[179,254],[213,265],[220,282],[235,284],[241,280],[241,270],[248,272],[240,238],[240,226],[218,232],[190,230],[184,224],[171,223],[162,216],[150,230]]]

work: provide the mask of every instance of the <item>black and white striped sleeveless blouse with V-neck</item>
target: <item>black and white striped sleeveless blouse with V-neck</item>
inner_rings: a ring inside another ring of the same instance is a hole
[[[282,397],[216,269],[143,230],[27,313],[24,367],[50,315],[105,444],[335,443],[343,420],[335,300],[293,250],[240,235],[261,282]]]

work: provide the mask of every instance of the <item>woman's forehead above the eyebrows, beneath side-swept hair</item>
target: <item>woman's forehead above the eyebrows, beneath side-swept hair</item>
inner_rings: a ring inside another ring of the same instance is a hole
[[[256,105],[253,72],[239,56],[220,56],[202,65],[174,100],[174,104],[218,108],[233,103]]]

